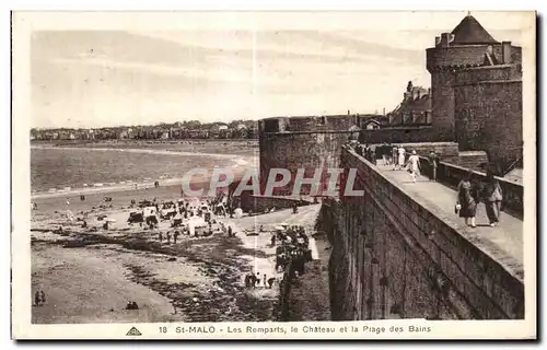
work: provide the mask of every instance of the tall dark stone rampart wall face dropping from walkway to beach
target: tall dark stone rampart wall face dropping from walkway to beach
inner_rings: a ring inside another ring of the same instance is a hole
[[[522,269],[503,268],[353,151],[341,162],[365,195],[328,203],[333,319],[524,317]]]

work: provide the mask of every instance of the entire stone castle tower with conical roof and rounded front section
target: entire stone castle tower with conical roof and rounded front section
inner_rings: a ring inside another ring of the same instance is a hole
[[[467,15],[427,49],[432,129],[461,151],[486,151],[500,173],[522,159],[522,49]]]

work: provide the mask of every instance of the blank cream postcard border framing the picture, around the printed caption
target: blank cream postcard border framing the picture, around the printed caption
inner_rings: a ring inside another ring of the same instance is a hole
[[[203,15],[214,18],[213,21],[202,21]],[[282,15],[286,21],[279,21]],[[246,13],[203,13],[195,15],[195,20],[186,20],[179,23],[175,13],[40,13],[40,12],[16,12],[13,18],[13,125],[12,125],[12,147],[13,147],[13,218],[12,218],[12,324],[13,336],[16,339],[127,339],[131,338],[126,334],[136,326],[142,336],[138,339],[261,339],[264,335],[233,334],[228,332],[228,327],[299,327],[299,332],[288,331],[287,334],[271,334],[267,339],[407,339],[408,338],[476,338],[476,339],[511,339],[511,338],[534,338],[536,336],[536,77],[535,77],[535,14],[532,12],[521,13],[522,23],[526,23],[522,30],[525,33],[526,45],[523,45],[523,124],[525,136],[524,170],[526,207],[524,220],[524,255],[525,261],[525,319],[524,320],[370,320],[370,322],[330,322],[330,323],[217,323],[217,324],[73,324],[73,325],[33,325],[31,324],[31,236],[30,222],[30,37],[33,31],[45,28],[135,28],[140,30],[168,30],[168,28],[253,28],[257,23],[268,27],[279,26],[283,23],[283,28],[310,28],[316,21],[322,21],[323,30],[334,30],[344,26],[345,28],[362,28],[359,26],[359,12],[338,12],[338,18],[328,19],[328,13],[314,13],[302,21],[287,21],[292,15],[302,13],[271,13],[258,14],[260,21]],[[385,13],[379,13],[376,21],[369,21],[361,25],[380,25],[385,19]],[[394,15],[401,15],[400,13]],[[429,14],[423,14],[426,18]],[[515,15],[514,13],[512,15]],[[344,18],[346,16],[346,18]],[[404,16],[404,14],[403,14]],[[269,19],[265,21],[264,19]],[[98,20],[101,19],[101,20]],[[154,19],[154,20],[152,20]],[[397,23],[394,21],[394,23]],[[427,23],[427,22],[424,22]],[[114,24],[114,25],[113,25]],[[529,25],[528,25],[529,24]],[[404,26],[405,21],[399,21],[398,25]],[[176,327],[205,327],[213,325],[214,332],[187,332],[177,334]],[[405,332],[401,336],[394,336],[386,331],[380,335],[362,331],[342,332],[341,327],[431,327],[430,332]],[[166,326],[170,331],[161,334],[159,327]],[[334,327],[338,329],[334,334],[306,332],[302,331],[304,326]],[[172,330],[175,329],[175,330]],[[220,331],[222,329],[222,331]]]

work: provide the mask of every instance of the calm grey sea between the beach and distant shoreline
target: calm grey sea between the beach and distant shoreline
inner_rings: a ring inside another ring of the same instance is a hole
[[[96,184],[182,178],[194,167],[246,166],[252,156],[147,149],[32,148],[31,188],[35,194]]]

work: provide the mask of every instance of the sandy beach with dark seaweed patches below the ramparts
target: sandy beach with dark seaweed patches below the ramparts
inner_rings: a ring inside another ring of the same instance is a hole
[[[296,214],[280,210],[241,219],[219,218],[233,226],[236,237],[228,237],[216,226],[211,236],[182,236],[176,244],[167,244],[159,241],[159,232],[172,231],[168,221],[153,231],[129,226],[128,207],[131,199],[178,198],[178,186],[109,196],[113,201],[107,206],[101,194],[88,196],[85,201],[69,197],[70,205],[63,197],[37,200],[31,232],[32,285],[33,295],[43,290],[47,301],[33,306],[33,323],[277,319],[278,283],[272,289],[264,283],[245,289],[244,276],[251,271],[279,280],[269,230],[286,222],[302,224],[312,234],[319,206],[302,207]],[[85,217],[88,228],[70,222],[68,209],[75,217]],[[115,220],[108,231],[101,228],[100,215]],[[259,225],[265,232],[246,235]],[[55,232],[59,226],[62,233]],[[126,310],[133,301],[139,310]]]

